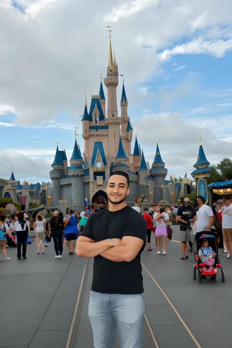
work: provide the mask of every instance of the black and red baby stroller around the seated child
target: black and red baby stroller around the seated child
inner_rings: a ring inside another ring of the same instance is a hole
[[[210,276],[212,280],[216,279],[217,273],[215,273],[215,269],[220,269],[221,270],[221,274],[222,274],[222,282],[225,281],[225,276],[224,276],[224,272],[222,270],[222,265],[218,256],[218,249],[217,249],[217,239],[215,237],[215,234],[213,232],[199,232],[197,233],[196,236],[196,251],[194,251],[194,257],[195,257],[195,261],[196,263],[193,265],[193,279],[196,279],[196,271],[198,270],[198,281],[199,283],[201,283],[202,279],[206,279],[207,276]],[[206,268],[206,264],[202,262],[202,260],[199,257],[199,250],[202,247],[202,241],[203,239],[207,239],[208,243],[209,243],[209,247],[212,248],[212,250],[215,252],[215,263],[212,265],[213,270],[211,272],[206,272],[203,270],[203,267]]]

